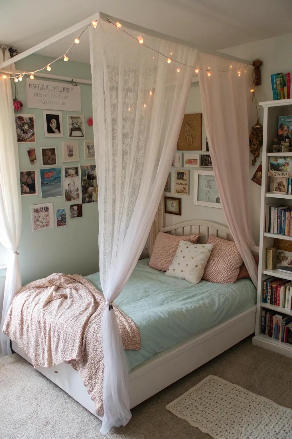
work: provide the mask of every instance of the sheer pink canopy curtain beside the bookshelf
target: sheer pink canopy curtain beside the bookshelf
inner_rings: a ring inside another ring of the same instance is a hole
[[[238,62],[201,52],[198,58],[204,122],[218,193],[233,239],[256,285],[257,266],[249,247],[255,243],[248,200],[252,66],[242,67]],[[201,70],[208,67],[212,70],[210,76]]]

